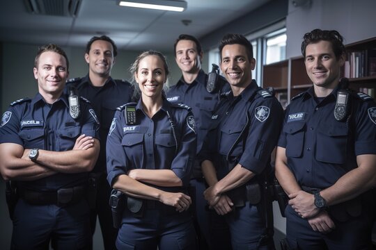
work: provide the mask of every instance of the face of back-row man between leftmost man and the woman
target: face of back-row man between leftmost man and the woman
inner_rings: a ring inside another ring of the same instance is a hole
[[[89,65],[91,74],[109,77],[113,63],[115,63],[112,44],[104,40],[94,41],[89,53],[85,54],[85,60]]]

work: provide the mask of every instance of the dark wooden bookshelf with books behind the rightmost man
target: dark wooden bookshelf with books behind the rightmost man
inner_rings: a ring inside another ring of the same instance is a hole
[[[345,47],[347,59],[342,75],[349,78],[352,90],[365,92],[375,98],[376,37],[347,44]],[[273,87],[282,104],[289,103],[292,97],[311,85],[303,56],[263,66],[263,88]]]

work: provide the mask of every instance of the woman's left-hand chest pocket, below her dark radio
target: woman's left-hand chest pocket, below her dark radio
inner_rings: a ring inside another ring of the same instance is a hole
[[[123,135],[121,145],[130,161],[131,169],[143,168],[143,133],[126,133]]]

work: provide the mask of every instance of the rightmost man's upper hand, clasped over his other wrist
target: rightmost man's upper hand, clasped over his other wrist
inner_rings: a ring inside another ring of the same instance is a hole
[[[313,194],[299,190],[298,192],[291,193],[288,203],[302,218],[311,218],[320,212],[320,209],[315,206],[315,198]]]

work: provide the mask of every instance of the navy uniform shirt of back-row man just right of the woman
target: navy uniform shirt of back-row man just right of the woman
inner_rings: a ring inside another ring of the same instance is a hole
[[[209,93],[206,90],[207,74],[201,69],[196,79],[187,84],[180,78],[167,92],[167,100],[172,103],[184,103],[191,107],[197,128],[197,153],[201,150],[203,140],[212,122],[212,112],[219,101],[222,92],[230,90],[226,83],[219,92]]]

